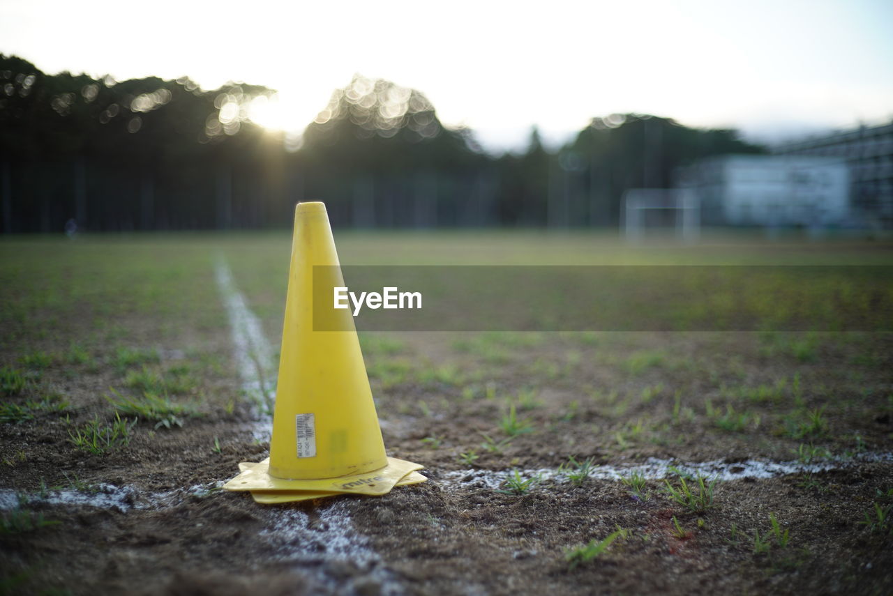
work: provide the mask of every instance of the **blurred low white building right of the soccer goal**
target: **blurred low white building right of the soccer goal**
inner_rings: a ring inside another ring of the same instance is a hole
[[[680,171],[705,226],[827,228],[851,224],[849,170],[837,158],[722,155]]]

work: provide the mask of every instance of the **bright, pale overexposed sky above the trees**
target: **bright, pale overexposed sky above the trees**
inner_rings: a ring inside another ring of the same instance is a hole
[[[493,151],[613,112],[770,142],[887,122],[890,31],[889,0],[0,0],[0,53],[45,72],[264,85],[262,123],[293,132],[359,73],[420,90]]]

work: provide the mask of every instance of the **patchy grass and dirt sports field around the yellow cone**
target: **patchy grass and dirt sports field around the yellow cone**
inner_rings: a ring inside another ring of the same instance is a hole
[[[336,242],[345,264],[893,264],[885,242],[797,236]],[[893,590],[883,331],[361,331],[388,453],[430,481],[303,507],[218,490],[269,422],[215,271],[272,346],[269,387],[289,247],[0,240],[0,592]]]

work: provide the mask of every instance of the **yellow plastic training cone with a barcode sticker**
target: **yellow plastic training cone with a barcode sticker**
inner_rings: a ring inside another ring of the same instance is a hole
[[[230,491],[261,491],[255,496],[259,502],[380,495],[396,484],[421,482],[421,475],[411,476],[412,482],[407,477],[420,465],[385,454],[350,310],[327,312],[343,318],[331,327],[343,330],[313,330],[314,266],[317,283],[345,286],[325,205],[298,203],[270,458],[244,466],[224,485]],[[273,492],[282,494],[272,500]]]

